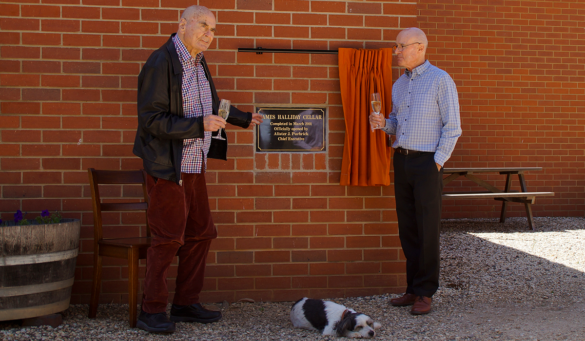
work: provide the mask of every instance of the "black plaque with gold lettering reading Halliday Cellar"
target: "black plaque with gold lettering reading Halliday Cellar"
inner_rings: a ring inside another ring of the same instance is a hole
[[[256,109],[256,151],[325,151],[325,108]]]

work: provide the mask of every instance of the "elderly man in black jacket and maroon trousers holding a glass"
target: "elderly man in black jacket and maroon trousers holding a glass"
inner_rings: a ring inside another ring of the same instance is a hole
[[[174,322],[221,319],[221,312],[199,304],[209,244],[217,237],[205,184],[207,157],[226,160],[227,151],[227,140],[211,138],[212,132],[225,128],[226,120],[216,115],[219,98],[203,57],[215,24],[214,14],[204,6],[185,9],[177,33],[150,55],[138,76],[133,153],[142,158],[149,175],[147,215],[153,241],[137,326],[149,332],[174,332]],[[258,113],[233,107],[227,121],[242,128],[262,122]],[[169,320],[167,271],[177,254]]]

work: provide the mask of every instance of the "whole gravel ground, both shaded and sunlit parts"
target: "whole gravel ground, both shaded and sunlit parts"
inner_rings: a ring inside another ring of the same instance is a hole
[[[585,218],[442,222],[441,288],[429,315],[393,307],[395,294],[333,299],[383,326],[379,340],[585,340]],[[211,325],[178,323],[172,335],[128,328],[127,305],[72,305],[57,328],[0,323],[2,340],[328,340],[295,329],[291,302],[215,305]]]

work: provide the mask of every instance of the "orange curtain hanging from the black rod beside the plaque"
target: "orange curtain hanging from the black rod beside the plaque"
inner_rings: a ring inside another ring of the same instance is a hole
[[[388,117],[392,108],[392,49],[339,49],[339,82],[345,142],[341,165],[341,185],[390,185],[388,135],[370,129],[370,94],[380,92],[382,111]]]

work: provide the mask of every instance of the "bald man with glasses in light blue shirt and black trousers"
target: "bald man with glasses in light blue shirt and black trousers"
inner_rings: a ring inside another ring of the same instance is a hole
[[[405,70],[392,87],[392,112],[388,119],[370,114],[371,125],[396,135],[394,194],[407,289],[390,304],[412,305],[414,315],[431,311],[439,288],[443,164],[461,135],[455,82],[426,60],[427,46],[425,33],[417,27],[398,33],[393,50]]]

